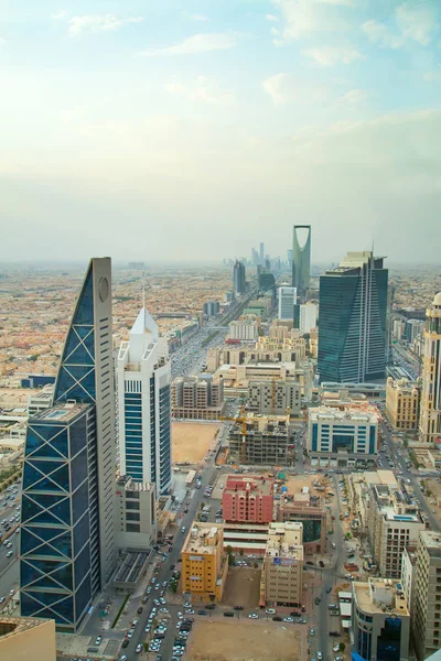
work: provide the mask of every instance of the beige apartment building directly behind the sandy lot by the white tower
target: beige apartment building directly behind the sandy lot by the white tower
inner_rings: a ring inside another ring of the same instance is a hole
[[[224,382],[212,375],[178,377],[171,390],[172,416],[178,420],[219,420],[224,415]]]

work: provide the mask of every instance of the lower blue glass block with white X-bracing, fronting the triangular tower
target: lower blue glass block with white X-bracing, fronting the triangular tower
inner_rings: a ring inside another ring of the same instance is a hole
[[[97,500],[94,407],[53,409],[29,422],[23,466],[20,535],[21,615],[55,619],[75,631],[97,582],[90,557]],[[63,411],[63,410],[62,410]],[[66,419],[63,420],[63,418]],[[95,505],[96,508],[96,505]],[[96,537],[96,531],[95,531]],[[99,578],[99,576],[98,576]]]

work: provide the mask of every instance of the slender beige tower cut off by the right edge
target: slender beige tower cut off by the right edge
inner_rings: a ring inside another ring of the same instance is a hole
[[[426,311],[420,442],[432,445],[441,436],[441,292]]]

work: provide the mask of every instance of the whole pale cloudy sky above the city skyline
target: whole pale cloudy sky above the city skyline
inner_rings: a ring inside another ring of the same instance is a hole
[[[439,0],[0,0],[0,260],[440,262]]]

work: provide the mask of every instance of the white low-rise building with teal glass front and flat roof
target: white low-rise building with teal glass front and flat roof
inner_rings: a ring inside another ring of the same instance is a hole
[[[327,407],[310,409],[306,446],[311,464],[338,467],[375,464],[378,421],[375,407],[345,411]]]

